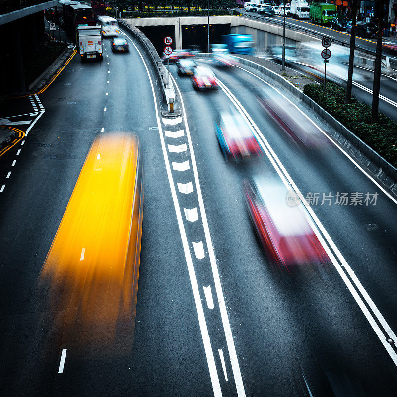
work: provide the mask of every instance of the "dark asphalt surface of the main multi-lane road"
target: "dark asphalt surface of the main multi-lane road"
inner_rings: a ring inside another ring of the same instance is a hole
[[[31,120],[0,157],[2,394],[396,396],[387,341],[397,329],[396,198],[334,143],[309,153],[291,145],[253,95],[265,83],[239,68],[216,70],[225,88],[196,92],[171,66],[185,109],[170,124],[132,42],[114,54],[105,41],[102,63],[75,56],[45,92],[1,110]],[[213,120],[232,101],[297,189],[319,194],[311,211],[328,266],[271,270],[241,183],[278,174],[269,155],[225,161]],[[136,134],[142,147],[136,322],[113,343],[85,345],[61,326],[66,308],[52,309],[39,275],[89,147],[110,132]],[[370,192],[377,202],[321,205],[323,193],[337,192]]]

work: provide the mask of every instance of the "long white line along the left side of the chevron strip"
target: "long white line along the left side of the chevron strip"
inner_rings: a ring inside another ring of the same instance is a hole
[[[205,356],[206,356],[207,363],[208,363],[208,370],[209,370],[209,375],[211,378],[212,389],[214,392],[214,397],[222,397],[222,390],[220,388],[219,377],[218,377],[218,373],[216,370],[215,358],[214,358],[214,354],[213,354],[213,350],[212,350],[212,346],[211,346],[211,341],[209,339],[208,328],[207,328],[207,324],[206,324],[205,316],[204,316],[204,309],[202,307],[202,302],[201,302],[201,297],[200,297],[200,292],[199,292],[199,285],[197,283],[195,268],[193,266],[193,261],[192,261],[192,257],[191,257],[190,249],[189,249],[189,243],[188,243],[188,239],[186,237],[186,231],[185,231],[185,226],[184,226],[184,222],[183,222],[183,218],[182,218],[182,212],[181,212],[181,208],[179,206],[178,196],[177,196],[177,193],[175,190],[175,184],[174,184],[172,171],[171,171],[171,167],[170,167],[170,160],[168,158],[168,153],[167,153],[167,149],[165,146],[163,130],[162,130],[162,125],[161,125],[161,121],[160,121],[160,117],[159,117],[159,110],[158,110],[158,106],[157,106],[157,96],[154,91],[153,81],[151,79],[149,69],[145,63],[145,60],[144,60],[141,52],[139,51],[138,47],[136,47],[136,45],[132,41],[132,39],[127,35],[126,35],[126,37],[131,41],[132,45],[135,47],[136,51],[138,52],[138,54],[143,62],[143,65],[145,66],[146,73],[149,78],[150,86],[152,89],[154,108],[155,108],[155,114],[156,114],[156,119],[157,119],[157,127],[158,127],[160,141],[161,141],[161,149],[163,151],[165,168],[167,171],[167,177],[168,177],[168,181],[170,184],[172,200],[174,203],[175,214],[176,214],[177,221],[178,221],[179,232],[181,235],[183,250],[184,250],[185,259],[186,259],[186,265],[188,267],[189,279],[190,279],[190,282],[192,285],[193,297],[195,300],[197,316],[199,319],[200,332],[201,332],[202,342],[204,345]],[[176,163],[176,164],[178,164],[178,163]],[[189,161],[187,161],[187,164],[188,164],[188,169],[189,169]]]

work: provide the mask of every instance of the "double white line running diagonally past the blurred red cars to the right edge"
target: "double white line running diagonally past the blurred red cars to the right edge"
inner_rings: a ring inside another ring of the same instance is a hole
[[[267,142],[265,136],[262,134],[261,130],[258,128],[258,126],[255,124],[254,120],[252,120],[251,116],[248,114],[246,109],[241,105],[239,100],[230,92],[230,90],[221,82],[219,79],[217,79],[219,86],[221,89],[225,92],[225,94],[229,97],[229,99],[232,101],[234,106],[237,108],[237,110],[240,112],[242,117],[245,119],[247,124],[249,126],[252,126],[253,132],[255,137],[258,139],[259,144],[261,147],[264,149],[266,156],[269,158],[270,162],[272,163],[275,171],[279,175],[280,179],[284,183],[284,185],[287,187],[288,190],[291,188],[295,191],[295,193],[298,195],[299,199],[301,200],[302,204],[305,206],[306,210],[310,214],[310,217],[308,217],[309,223],[315,232],[316,236],[318,237],[320,243],[323,245],[324,249],[327,252],[327,255],[330,257],[332,264],[336,268],[337,272],[339,273],[340,277],[342,278],[343,282],[346,284],[347,288],[349,289],[350,293],[352,294],[353,298],[357,302],[358,306],[360,307],[361,311],[363,312],[364,316],[367,318],[369,324],[371,325],[372,329],[375,331],[377,334],[379,340],[385,347],[386,351],[389,353],[391,359],[397,366],[397,354],[393,350],[392,346],[390,343],[388,343],[387,339],[385,338],[385,335],[383,331],[380,329],[378,326],[378,323],[374,319],[373,315],[370,313],[370,311],[367,309],[367,306],[361,299],[360,295],[357,293],[357,290],[361,293],[363,296],[364,300],[366,301],[367,305],[370,307],[372,310],[373,314],[379,321],[379,323],[382,325],[383,329],[387,332],[390,338],[392,338],[394,341],[397,340],[396,335],[390,328],[389,324],[386,322],[382,314],[379,312],[378,308],[375,306],[374,302],[368,295],[367,291],[364,289],[364,287],[361,285],[360,281],[358,280],[357,276],[354,274],[354,271],[351,269],[350,265],[347,263],[347,261],[344,259],[343,255],[341,252],[338,250],[336,247],[335,243],[331,239],[331,236],[328,234],[327,230],[323,226],[323,224],[320,222],[319,218],[316,216],[314,213],[313,209],[310,207],[310,205],[307,203],[306,199],[296,186],[295,182],[291,178],[291,176],[288,174],[287,170],[285,167],[282,165],[281,161],[275,154],[274,150],[271,148],[269,143]],[[269,84],[270,85],[270,84]],[[271,85],[270,85],[271,86]],[[274,87],[273,87],[274,88]],[[320,234],[320,232],[323,234],[323,236]],[[326,243],[326,241],[328,244]],[[353,281],[355,287],[347,277],[346,273],[343,271],[341,265],[337,262],[335,256],[331,252],[329,246],[339,259],[340,263],[343,265],[343,267],[346,269],[346,272],[350,276],[351,280]]]

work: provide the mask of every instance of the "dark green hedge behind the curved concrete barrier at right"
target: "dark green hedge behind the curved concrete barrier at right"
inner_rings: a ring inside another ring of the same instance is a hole
[[[358,102],[354,97],[350,104],[345,105],[346,90],[343,87],[328,82],[326,88],[324,91],[323,85],[306,84],[303,92],[397,167],[397,123],[379,113],[378,122],[371,124],[371,106]]]

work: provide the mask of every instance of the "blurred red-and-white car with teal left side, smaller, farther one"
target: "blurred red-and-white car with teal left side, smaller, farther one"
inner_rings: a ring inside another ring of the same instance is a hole
[[[215,132],[226,158],[247,159],[262,154],[254,133],[237,111],[219,113],[215,118]]]

